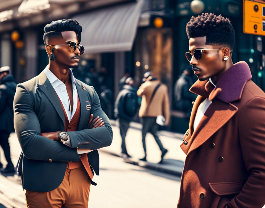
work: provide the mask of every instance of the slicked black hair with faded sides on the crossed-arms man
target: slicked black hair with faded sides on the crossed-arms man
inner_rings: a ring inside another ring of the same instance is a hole
[[[50,24],[45,25],[43,41],[47,45],[51,38],[63,38],[63,31],[74,31],[77,34],[78,42],[81,42],[82,27],[76,20],[60,19],[52,21]]]

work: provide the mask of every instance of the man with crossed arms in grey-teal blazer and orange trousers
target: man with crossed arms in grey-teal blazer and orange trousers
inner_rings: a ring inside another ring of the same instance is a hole
[[[81,32],[72,19],[47,24],[43,40],[49,64],[17,85],[18,171],[30,208],[87,208],[90,185],[96,185],[93,175],[99,174],[97,149],[112,143],[110,121],[96,91],[75,79],[71,70],[78,68],[84,53]]]

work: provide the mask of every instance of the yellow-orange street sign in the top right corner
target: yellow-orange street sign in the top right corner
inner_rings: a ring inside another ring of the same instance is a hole
[[[265,1],[243,1],[243,32],[265,35]]]

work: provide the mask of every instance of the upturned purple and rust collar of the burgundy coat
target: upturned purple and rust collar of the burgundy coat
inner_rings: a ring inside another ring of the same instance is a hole
[[[219,79],[214,87],[209,80],[197,81],[190,88],[190,92],[213,100],[218,98],[225,103],[240,100],[243,88],[248,80],[252,78],[248,64],[239,61]]]

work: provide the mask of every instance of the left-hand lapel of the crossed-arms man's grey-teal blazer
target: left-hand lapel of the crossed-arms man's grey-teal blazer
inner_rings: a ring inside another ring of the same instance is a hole
[[[57,111],[57,113],[59,114],[60,118],[64,123],[64,111],[62,105],[60,103],[58,95],[56,94],[54,88],[49,82],[49,79],[47,79],[44,71],[42,71],[41,74],[39,75],[39,84],[37,85],[38,88],[40,88],[42,92],[47,96],[47,98],[51,101],[52,105],[54,106],[55,110]]]

